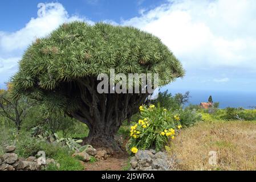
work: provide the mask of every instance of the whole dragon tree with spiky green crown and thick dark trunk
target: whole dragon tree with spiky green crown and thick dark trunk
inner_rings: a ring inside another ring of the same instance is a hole
[[[71,22],[27,48],[13,77],[13,96],[42,101],[46,116],[64,111],[88,126],[85,142],[116,149],[117,130],[150,94],[97,92],[97,77],[111,69],[125,75],[158,73],[159,86],[184,75],[180,61],[152,34],[134,27]]]

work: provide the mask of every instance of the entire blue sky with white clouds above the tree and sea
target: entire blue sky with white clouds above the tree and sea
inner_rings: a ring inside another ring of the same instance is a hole
[[[46,5],[43,17],[38,3]],[[254,0],[2,0],[0,88],[35,38],[72,20],[131,25],[159,36],[186,69],[165,87],[170,90],[256,91]]]

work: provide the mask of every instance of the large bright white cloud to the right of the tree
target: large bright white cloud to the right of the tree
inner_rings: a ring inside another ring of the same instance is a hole
[[[256,70],[256,3],[172,1],[124,20],[159,36],[185,68]]]

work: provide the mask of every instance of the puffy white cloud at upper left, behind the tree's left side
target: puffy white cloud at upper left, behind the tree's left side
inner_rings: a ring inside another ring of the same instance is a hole
[[[36,38],[46,36],[60,24],[72,20],[86,19],[68,15],[60,3],[47,3],[45,16],[31,18],[24,28],[16,32],[0,32],[0,49],[5,52],[23,50]],[[93,23],[90,20],[87,22]]]

